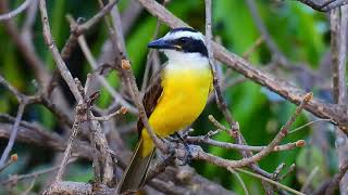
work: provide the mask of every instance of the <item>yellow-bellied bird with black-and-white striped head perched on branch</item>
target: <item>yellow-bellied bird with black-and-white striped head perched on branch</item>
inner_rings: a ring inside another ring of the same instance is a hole
[[[166,138],[189,126],[203,110],[212,89],[212,73],[202,34],[192,28],[175,28],[148,44],[159,49],[167,63],[153,75],[142,103],[156,134]],[[141,120],[139,140],[117,192],[138,191],[146,179],[154,145]]]

